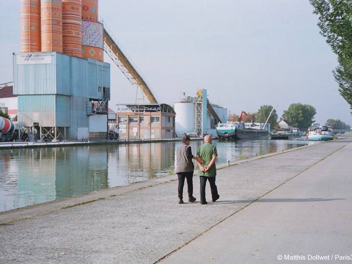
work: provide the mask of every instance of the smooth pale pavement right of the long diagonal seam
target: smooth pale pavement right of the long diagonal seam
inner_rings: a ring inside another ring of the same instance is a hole
[[[349,144],[161,263],[351,263],[351,161]]]

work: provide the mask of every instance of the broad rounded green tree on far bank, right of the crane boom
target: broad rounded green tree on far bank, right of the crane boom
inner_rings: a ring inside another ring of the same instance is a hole
[[[291,104],[283,113],[283,119],[287,119],[294,127],[306,131],[312,123],[316,110],[310,105],[301,103]]]

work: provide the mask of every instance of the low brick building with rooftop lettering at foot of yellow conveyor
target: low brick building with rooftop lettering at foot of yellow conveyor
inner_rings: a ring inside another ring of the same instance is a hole
[[[119,139],[161,139],[175,135],[175,111],[166,104],[119,105]]]

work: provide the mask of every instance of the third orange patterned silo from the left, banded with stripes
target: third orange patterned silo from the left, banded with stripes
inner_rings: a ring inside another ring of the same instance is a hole
[[[82,0],[63,0],[63,53],[82,58]]]

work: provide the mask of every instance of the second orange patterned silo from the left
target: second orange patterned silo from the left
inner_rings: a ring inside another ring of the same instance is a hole
[[[42,0],[41,26],[42,51],[62,53],[62,0]]]

